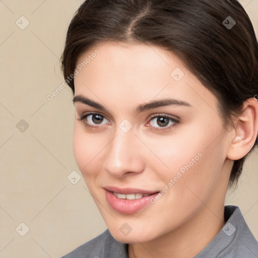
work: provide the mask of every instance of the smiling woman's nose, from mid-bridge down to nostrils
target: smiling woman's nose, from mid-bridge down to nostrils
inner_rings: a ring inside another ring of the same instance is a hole
[[[119,129],[119,128],[118,128]],[[141,173],[144,170],[141,141],[130,132],[117,132],[106,148],[104,169],[114,177]]]

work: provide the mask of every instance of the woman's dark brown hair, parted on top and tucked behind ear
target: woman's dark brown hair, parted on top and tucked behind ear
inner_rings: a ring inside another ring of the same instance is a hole
[[[240,114],[243,102],[257,96],[257,40],[236,0],[85,1],[71,21],[61,56],[73,93],[70,76],[78,57],[108,40],[151,43],[176,54],[218,98],[225,128]],[[251,151],[256,145],[257,139]],[[236,185],[250,152],[234,161],[229,186]]]

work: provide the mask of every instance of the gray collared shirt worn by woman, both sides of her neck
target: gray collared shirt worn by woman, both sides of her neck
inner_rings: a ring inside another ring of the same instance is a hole
[[[225,226],[193,258],[258,258],[258,242],[237,206],[225,206]],[[106,229],[61,258],[128,258],[128,244],[118,242]]]

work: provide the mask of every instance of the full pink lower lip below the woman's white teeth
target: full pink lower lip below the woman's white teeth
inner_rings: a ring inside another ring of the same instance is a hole
[[[142,197],[140,199],[135,200],[127,200],[127,199],[120,199],[113,195],[113,192],[108,191],[105,189],[106,192],[106,199],[109,205],[117,212],[123,214],[132,214],[135,212],[140,211],[145,206],[150,204],[150,200],[154,198],[158,193],[153,193],[153,195]]]

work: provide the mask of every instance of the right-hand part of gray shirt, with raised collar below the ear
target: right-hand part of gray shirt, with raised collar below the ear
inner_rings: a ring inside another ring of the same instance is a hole
[[[237,206],[225,206],[225,226],[195,258],[256,258],[258,242]]]

